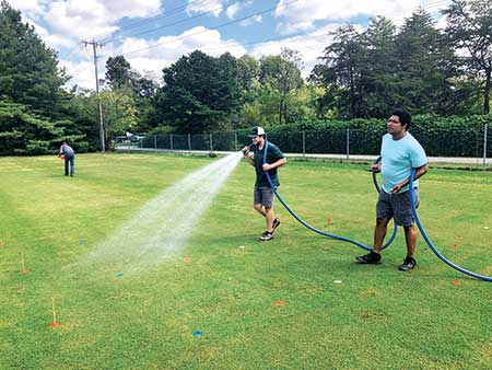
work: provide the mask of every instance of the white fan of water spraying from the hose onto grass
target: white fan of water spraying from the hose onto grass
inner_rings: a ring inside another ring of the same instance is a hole
[[[107,236],[85,263],[129,271],[155,266],[181,253],[195,226],[241,159],[241,151],[232,153],[161,192]]]

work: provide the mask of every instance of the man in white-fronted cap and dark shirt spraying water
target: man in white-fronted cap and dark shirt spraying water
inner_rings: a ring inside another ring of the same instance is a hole
[[[256,170],[256,183],[254,188],[254,208],[267,220],[267,230],[258,239],[268,242],[273,239],[273,232],[280,224],[273,212],[273,190],[268,184],[265,171],[268,171],[271,182],[277,187],[280,185],[277,175],[277,167],[284,165],[286,159],[274,143],[268,142],[267,162],[263,164],[265,130],[262,127],[255,127],[248,135],[253,146],[243,149],[244,157]],[[253,151],[254,157],[249,157]]]

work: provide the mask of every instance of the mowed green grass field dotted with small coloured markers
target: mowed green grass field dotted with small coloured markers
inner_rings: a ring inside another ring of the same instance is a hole
[[[399,271],[401,231],[382,265],[356,265],[363,250],[314,234],[280,203],[274,240],[258,243],[265,223],[245,161],[177,256],[132,274],[84,263],[148,200],[212,161],[84,154],[70,178],[55,157],[0,158],[0,369],[492,368],[491,282],[450,269],[421,236],[418,267]],[[371,243],[365,166],[290,161],[279,192],[314,227]],[[431,169],[421,181],[434,243],[488,276],[491,209],[492,173]]]

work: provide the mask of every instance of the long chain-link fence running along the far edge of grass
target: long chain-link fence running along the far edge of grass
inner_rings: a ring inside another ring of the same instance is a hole
[[[269,141],[284,153],[305,155],[340,154],[377,155],[385,129],[332,128],[323,130],[284,131],[268,134]],[[472,158],[477,165],[487,167],[492,157],[492,135],[483,127],[449,127],[423,130],[412,127],[411,134],[423,146],[429,157]],[[199,135],[151,135],[139,140],[117,138],[118,149],[145,149],[183,152],[232,152],[250,143],[246,135],[237,132]],[[119,141],[118,141],[119,140]]]

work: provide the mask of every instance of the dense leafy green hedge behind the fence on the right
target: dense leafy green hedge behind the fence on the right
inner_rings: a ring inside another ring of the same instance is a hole
[[[481,157],[484,125],[489,125],[488,153],[492,157],[492,115],[469,117],[413,117],[410,132],[432,157]],[[268,139],[283,152],[347,153],[347,130],[351,154],[378,154],[386,123],[380,119],[313,120],[265,127]],[[247,142],[247,130],[237,131]]]

